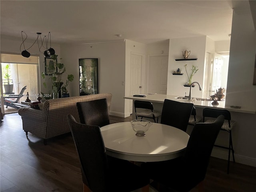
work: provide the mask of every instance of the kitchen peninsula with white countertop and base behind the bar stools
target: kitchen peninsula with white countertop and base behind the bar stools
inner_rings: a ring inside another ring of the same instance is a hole
[[[164,99],[179,101],[179,102],[191,102],[196,107],[196,115],[202,118],[202,112],[205,107],[213,107],[216,109],[227,109],[230,111],[232,120],[236,121],[234,130],[232,130],[233,146],[235,150],[236,162],[256,167],[256,109],[255,105],[242,106],[240,109],[230,108],[225,105],[225,101],[218,101],[219,105],[212,105],[212,101],[189,101],[184,99],[177,99],[176,95],[164,95],[164,94],[146,94],[146,97],[134,97],[125,96],[125,99],[150,101],[153,103],[154,110],[161,112],[164,104]],[[136,119],[134,107],[132,108],[132,119]],[[145,118],[146,119],[146,118]],[[148,119],[150,120],[150,119]],[[161,117],[158,119],[161,122]],[[188,126],[187,133],[190,134],[193,126]],[[216,144],[228,146],[228,135],[222,131],[216,140]],[[212,156],[217,158],[228,159],[228,150],[222,148],[214,148],[212,150]],[[226,168],[225,168],[226,169]],[[232,168],[230,169],[232,171]]]

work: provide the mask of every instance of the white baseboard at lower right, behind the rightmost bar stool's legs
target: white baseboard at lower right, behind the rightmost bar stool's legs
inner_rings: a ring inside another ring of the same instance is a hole
[[[216,158],[220,158],[220,159],[224,159],[224,160],[228,160],[228,150],[221,149],[221,148],[218,148],[218,147],[214,147],[213,150],[212,150],[211,156],[216,157]],[[236,163],[241,163],[241,164],[244,164],[244,165],[249,165],[249,166],[256,167],[256,159],[255,158],[251,158],[251,157],[236,154],[236,151],[235,151],[234,156],[235,156]],[[230,161],[233,161],[232,152],[230,154]]]

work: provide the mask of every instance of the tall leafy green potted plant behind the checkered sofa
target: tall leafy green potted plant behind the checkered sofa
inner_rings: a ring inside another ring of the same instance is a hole
[[[66,68],[63,63],[58,62],[58,55],[51,55],[51,58],[53,60],[53,63],[50,63],[49,66],[46,66],[48,67],[49,73],[52,74],[52,76],[50,76],[50,78],[48,79],[52,82],[52,90],[49,90],[50,97],[45,97],[45,94],[41,92],[44,98],[46,99],[58,98],[61,90],[62,92],[67,93],[68,91],[66,89],[66,86],[68,86],[69,82],[74,80],[74,75],[68,74],[68,80],[66,80],[66,84],[62,88],[63,82],[61,80],[61,76],[63,73],[66,73]],[[42,78],[44,79],[45,77],[45,73],[42,72]],[[43,85],[44,88],[46,88],[46,82],[44,82]]]

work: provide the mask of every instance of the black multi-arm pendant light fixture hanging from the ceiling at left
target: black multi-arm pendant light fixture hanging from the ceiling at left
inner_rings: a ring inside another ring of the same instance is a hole
[[[26,35],[25,39],[23,38],[23,34]],[[21,55],[23,57],[27,57],[27,58],[30,57],[30,53],[27,50],[29,50],[36,42],[38,44],[39,52],[44,54],[44,57],[50,57],[51,55],[54,55],[55,54],[55,50],[51,47],[51,33],[49,32],[48,33],[48,37],[46,38],[46,36],[44,36],[43,39],[41,37],[42,33],[38,32],[36,34],[37,34],[37,38],[36,38],[35,42],[28,49],[26,49],[24,42],[25,42],[25,40],[27,39],[28,36],[27,36],[27,34],[24,31],[21,32],[22,43],[20,45],[20,51],[21,51],[22,44],[23,44],[23,47],[24,47],[24,51],[21,52]],[[39,37],[40,37],[40,41],[38,40]],[[50,37],[50,48],[48,49],[49,37]],[[44,41],[45,41],[45,45],[44,45]],[[43,51],[43,52],[41,51],[42,47],[45,49],[45,51]]]

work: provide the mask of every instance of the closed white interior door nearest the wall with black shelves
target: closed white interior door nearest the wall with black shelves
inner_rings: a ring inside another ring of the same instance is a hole
[[[167,94],[168,56],[149,56],[148,93]]]

